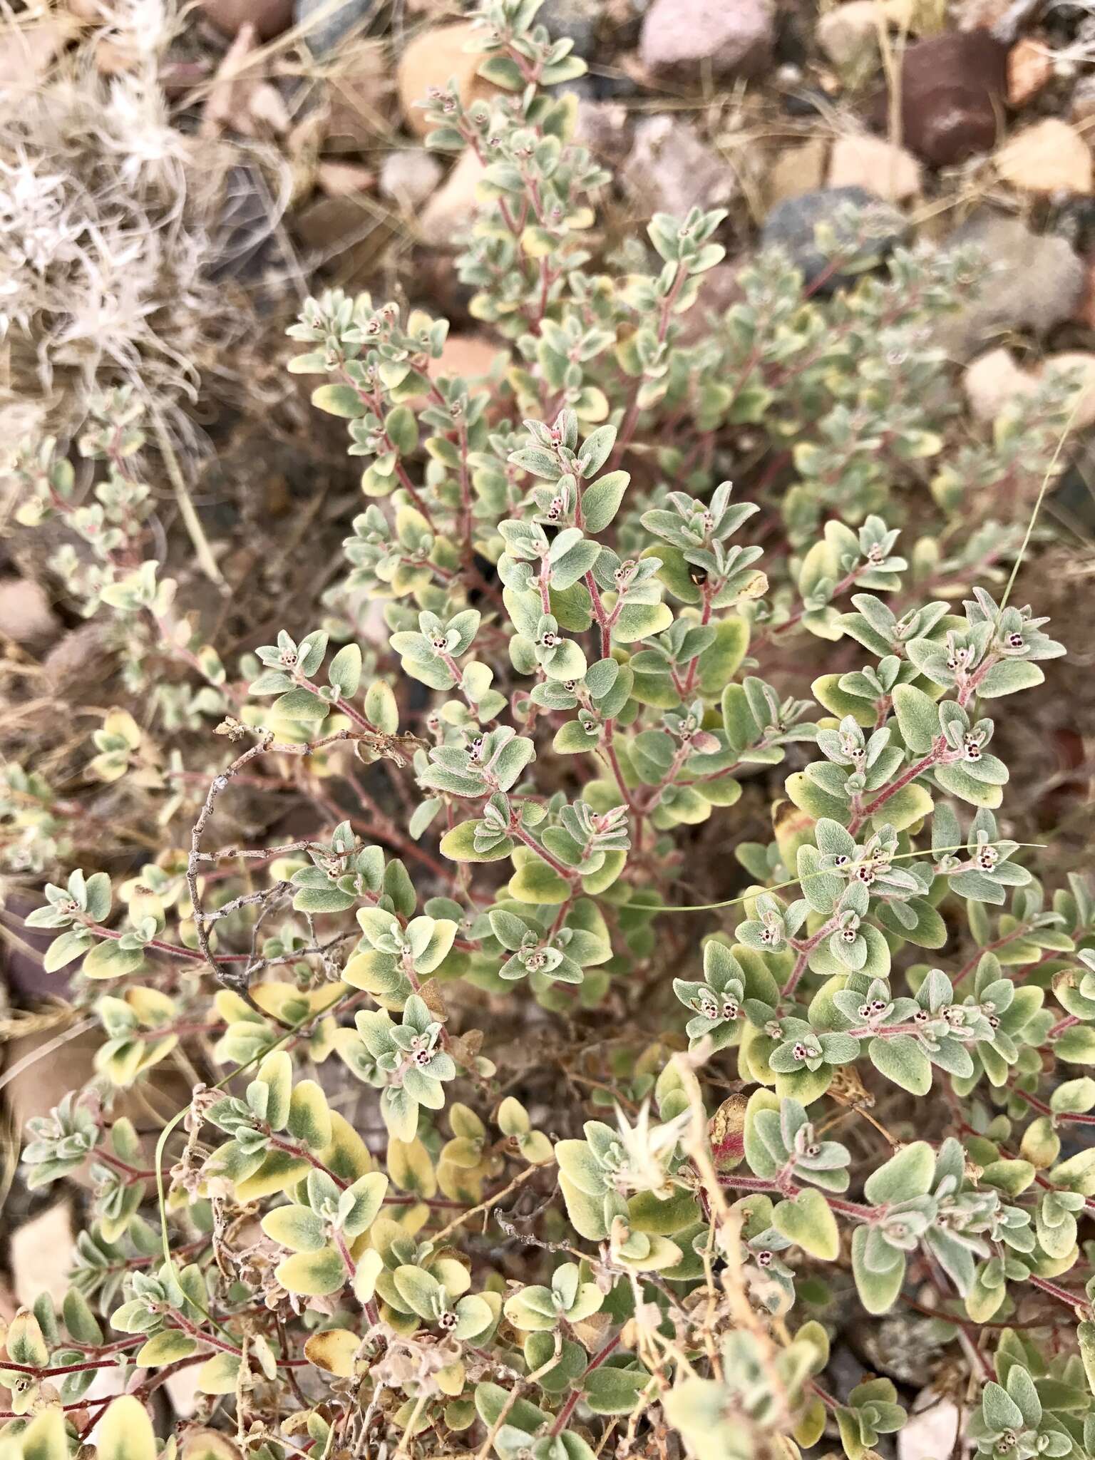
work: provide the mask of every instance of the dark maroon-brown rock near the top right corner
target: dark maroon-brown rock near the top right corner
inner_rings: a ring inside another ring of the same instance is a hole
[[[936,35],[905,51],[901,131],[931,166],[950,166],[996,145],[1007,76],[1007,50],[987,31]],[[885,121],[885,98],[876,108]]]

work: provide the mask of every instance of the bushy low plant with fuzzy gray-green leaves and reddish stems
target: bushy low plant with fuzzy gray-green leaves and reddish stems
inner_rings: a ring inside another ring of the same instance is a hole
[[[723,215],[654,218],[653,270],[606,251],[583,66],[536,10],[482,9],[496,98],[428,102],[483,162],[458,269],[510,346],[491,388],[366,295],[291,330],[369,498],[324,625],[286,610],[232,679],[191,641],[131,397],[85,438],[93,505],[22,458],[20,520],[89,545],[57,571],[158,712],[110,715],[89,772],[188,831],[29,917],[104,1038],[28,1132],[29,1187],[93,1196],[60,1311],[7,1330],[0,1447],[66,1460],[98,1422],[104,1460],[155,1460],[147,1402],[200,1365],[165,1454],[866,1460],[907,1407],[828,1378],[856,1301],[923,1314],[978,1453],[1092,1456],[1095,898],[1031,870],[993,746],[1063,647],[1004,581],[1022,526],[962,530],[980,483],[1044,491],[1067,394],[950,431],[958,257],[832,298],[762,257],[685,331]],[[158,736],[209,714],[235,755],[194,794]],[[222,842],[254,784],[321,831]],[[63,810],[7,793],[48,864]],[[712,877],[739,891],[683,899]],[[172,1064],[193,1098],[150,1148],[131,1092]]]

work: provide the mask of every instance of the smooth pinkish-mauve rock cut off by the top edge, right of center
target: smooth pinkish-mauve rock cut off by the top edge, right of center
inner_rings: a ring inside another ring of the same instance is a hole
[[[774,0],[654,0],[642,20],[639,58],[654,74],[698,79],[755,74],[775,42]]]

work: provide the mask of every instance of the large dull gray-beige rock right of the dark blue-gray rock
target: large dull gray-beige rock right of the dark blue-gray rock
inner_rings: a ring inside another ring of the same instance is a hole
[[[984,213],[942,247],[964,244],[983,250],[990,273],[972,302],[942,327],[943,343],[962,358],[1009,330],[1045,334],[1072,318],[1083,298],[1083,261],[1066,239],[1032,234],[1018,218]]]

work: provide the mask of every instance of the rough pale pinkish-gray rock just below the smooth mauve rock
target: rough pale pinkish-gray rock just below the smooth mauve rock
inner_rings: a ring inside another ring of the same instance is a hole
[[[623,187],[644,216],[717,207],[737,191],[734,169],[685,121],[645,117],[622,172]]]

